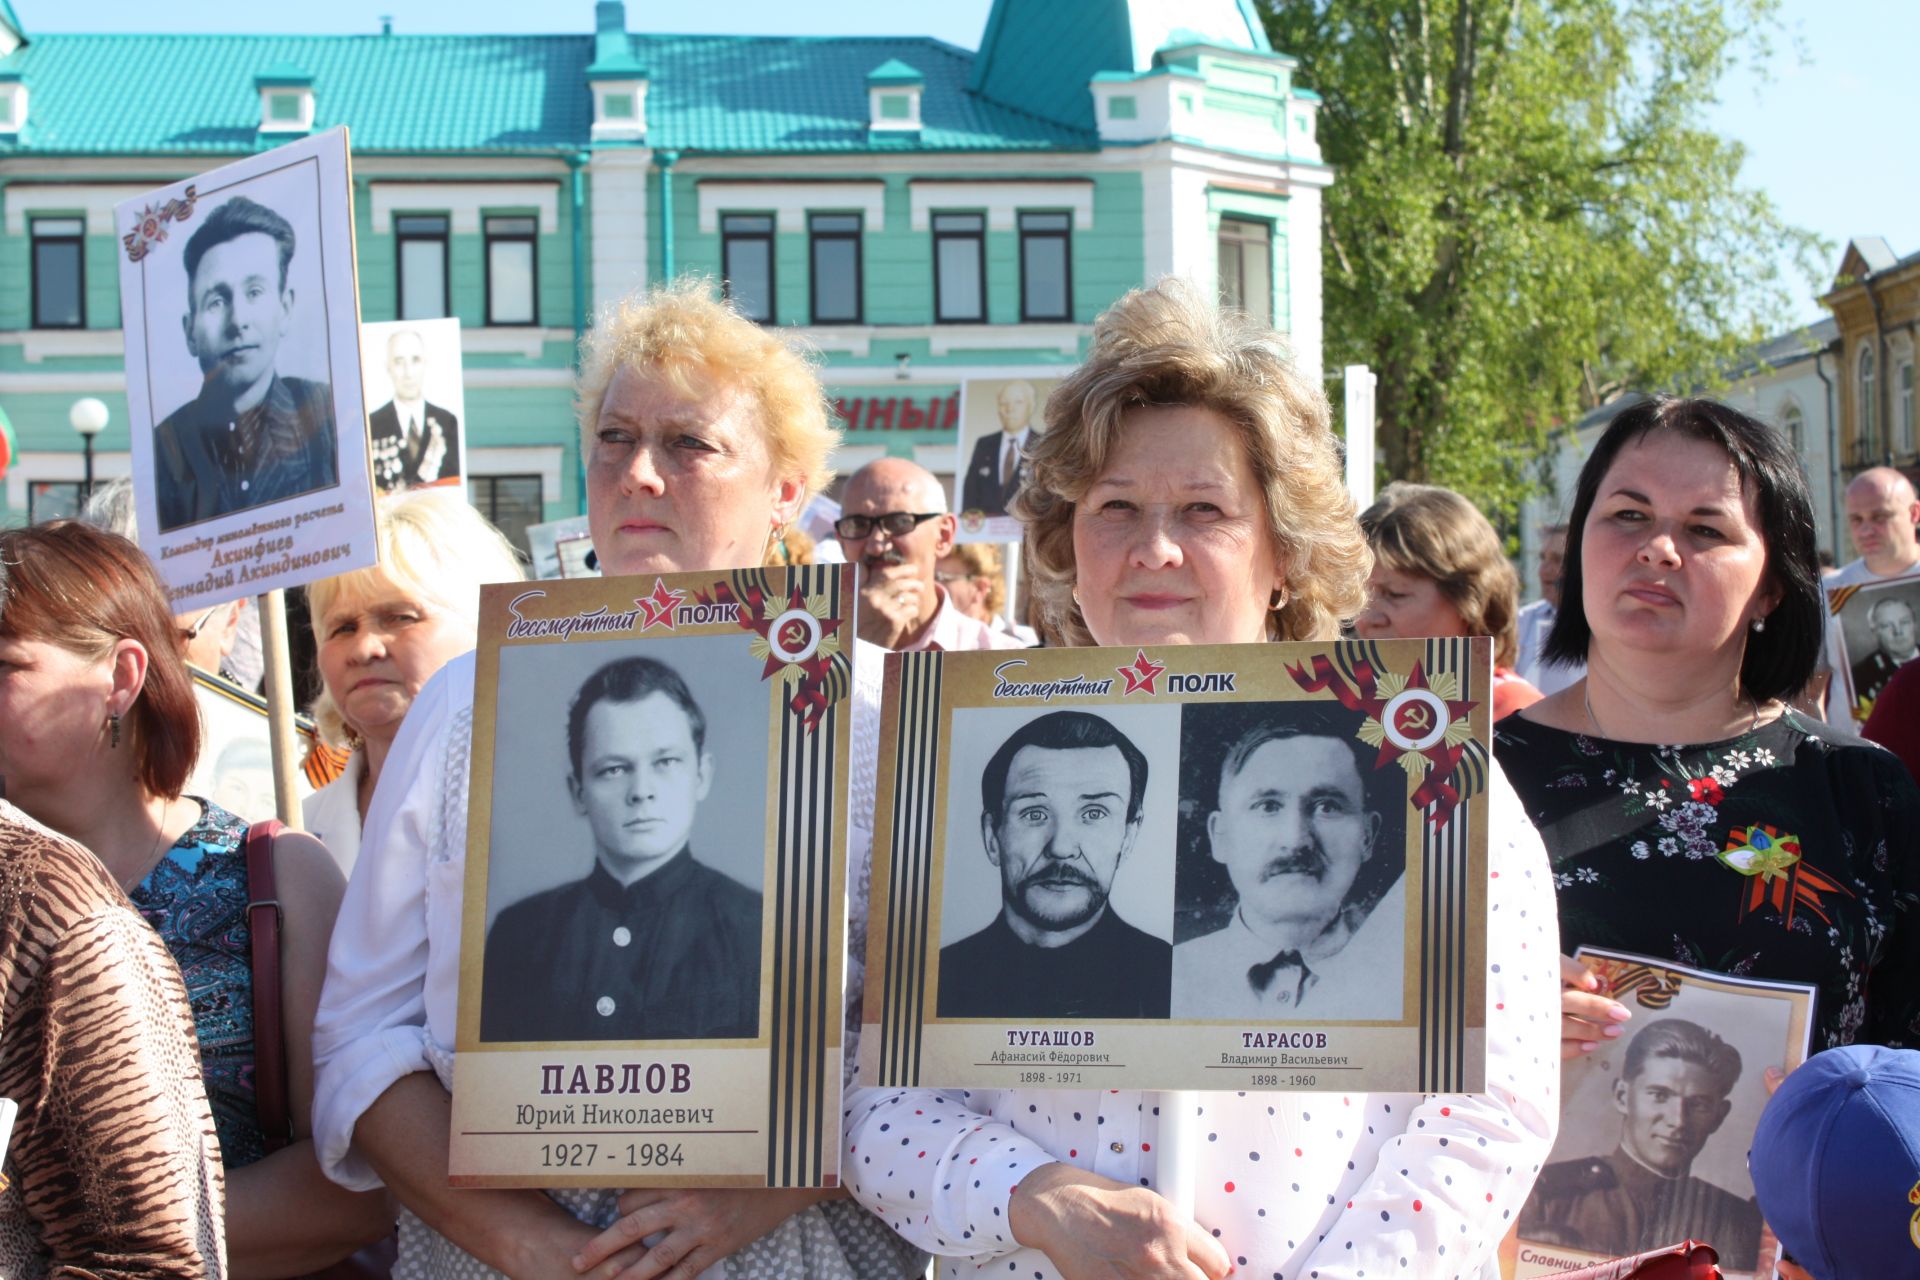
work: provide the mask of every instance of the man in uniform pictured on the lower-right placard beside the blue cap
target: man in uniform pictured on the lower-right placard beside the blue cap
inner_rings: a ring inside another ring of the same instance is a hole
[[[1722,1267],[1753,1270],[1759,1205],[1692,1173],[1734,1109],[1728,1094],[1738,1080],[1740,1050],[1699,1023],[1663,1017],[1642,1027],[1613,1084],[1619,1146],[1542,1169],[1521,1236],[1609,1255],[1709,1240]]]

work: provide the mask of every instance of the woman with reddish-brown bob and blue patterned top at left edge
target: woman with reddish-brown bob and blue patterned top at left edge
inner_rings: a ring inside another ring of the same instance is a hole
[[[292,1126],[255,1109],[248,825],[182,794],[200,710],[146,555],[77,520],[0,532],[0,783],[36,821],[94,850],[186,979],[227,1165],[234,1276],[298,1276],[380,1238],[380,1196],[346,1192],[307,1140],[313,1009],[342,877],[319,841],[273,842],[282,906],[280,1025]]]

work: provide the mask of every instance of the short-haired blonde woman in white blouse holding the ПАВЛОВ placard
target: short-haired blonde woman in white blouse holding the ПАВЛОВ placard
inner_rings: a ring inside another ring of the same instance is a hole
[[[835,434],[812,368],[703,282],[601,315],[576,391],[609,574],[756,566],[828,476]],[[470,654],[449,662],[388,752],[313,1032],[321,1165],[394,1190],[394,1274],[920,1274],[924,1259],[839,1190],[447,1186],[472,681]]]

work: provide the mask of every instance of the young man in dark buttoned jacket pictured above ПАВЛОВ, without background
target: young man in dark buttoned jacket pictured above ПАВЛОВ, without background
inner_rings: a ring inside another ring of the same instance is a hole
[[[760,894],[689,846],[714,756],[685,681],[653,658],[609,662],[574,695],[566,748],[593,871],[493,921],[480,1038],[758,1034]]]

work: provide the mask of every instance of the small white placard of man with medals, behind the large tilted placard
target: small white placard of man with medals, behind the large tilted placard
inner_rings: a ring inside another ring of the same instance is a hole
[[[380,493],[467,484],[461,322],[361,324],[367,441]]]

